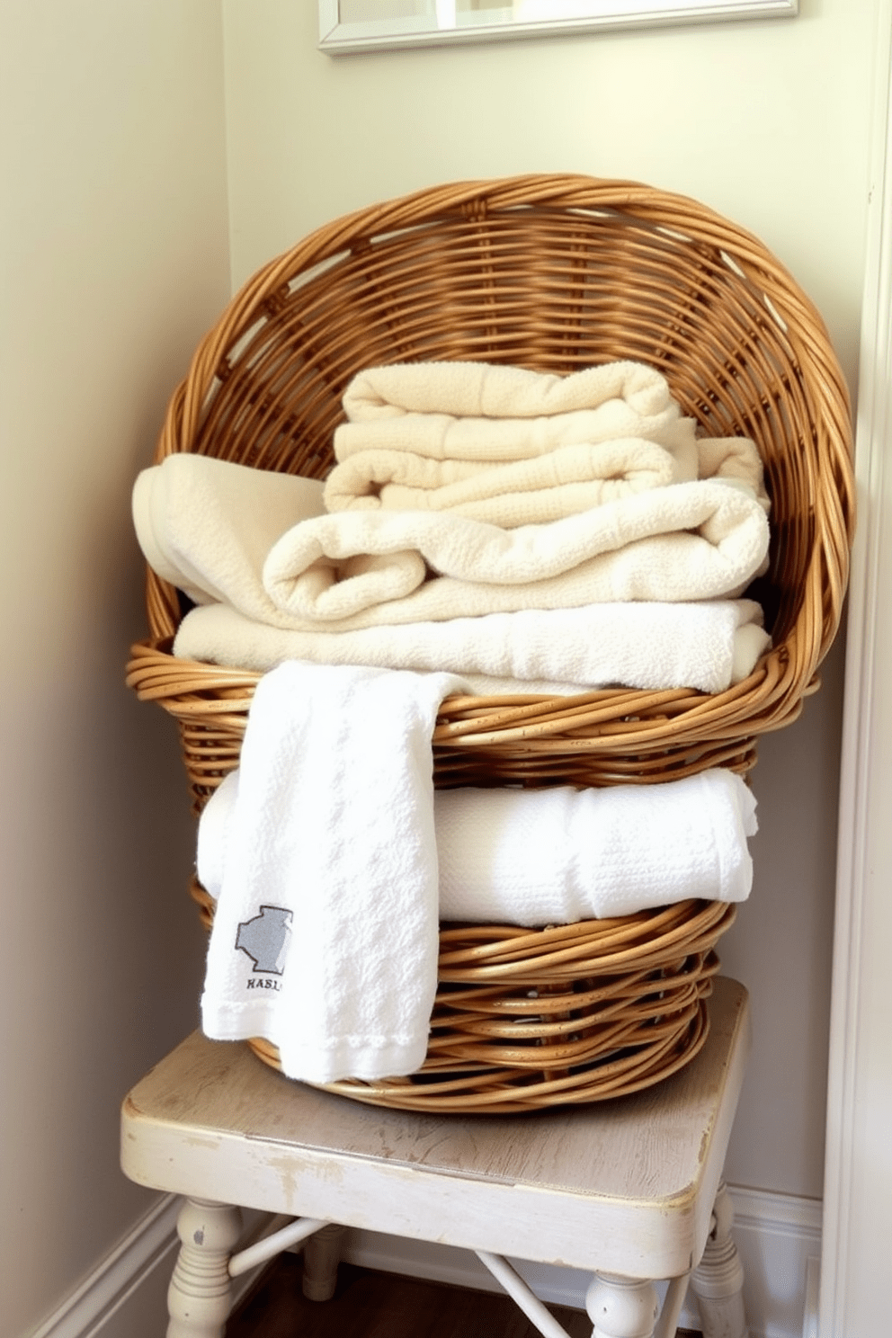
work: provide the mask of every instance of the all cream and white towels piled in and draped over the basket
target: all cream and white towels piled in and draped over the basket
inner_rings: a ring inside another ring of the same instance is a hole
[[[444,697],[721,692],[769,644],[758,452],[698,438],[654,369],[372,368],[344,408],[325,484],[174,455],[134,490],[195,605],[174,654],[263,674],[199,828],[203,1026],[313,1082],[421,1065],[440,919],[749,894],[738,776],[435,796]]]

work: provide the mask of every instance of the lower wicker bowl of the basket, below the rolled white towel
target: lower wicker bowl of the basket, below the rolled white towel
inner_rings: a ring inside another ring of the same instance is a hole
[[[193,895],[213,921],[197,883]],[[444,925],[423,1066],[328,1090],[408,1111],[506,1115],[650,1086],[706,1040],[714,947],[736,914],[687,900],[542,930]],[[281,1066],[269,1041],[249,1044]]]

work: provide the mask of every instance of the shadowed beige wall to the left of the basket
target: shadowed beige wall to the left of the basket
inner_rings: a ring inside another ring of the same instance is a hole
[[[118,1168],[118,1105],[197,1020],[185,781],[123,665],[130,487],[229,290],[219,3],[1,0],[0,62],[0,1334],[21,1338],[154,1202]]]

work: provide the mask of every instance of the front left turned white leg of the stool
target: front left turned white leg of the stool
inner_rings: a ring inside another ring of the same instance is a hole
[[[167,1288],[167,1338],[223,1338],[230,1310],[227,1266],[241,1230],[239,1208],[186,1199],[177,1219],[182,1244]]]

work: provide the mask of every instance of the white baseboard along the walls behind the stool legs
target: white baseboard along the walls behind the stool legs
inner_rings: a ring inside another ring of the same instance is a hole
[[[734,1239],[741,1254],[750,1338],[809,1338],[814,1327],[816,1274],[821,1251],[821,1204],[814,1199],[730,1187]],[[179,1199],[163,1195],[80,1286],[27,1338],[146,1338],[163,1331],[163,1297],[177,1251]],[[263,1234],[265,1219],[251,1215],[246,1239]],[[368,1268],[429,1278],[461,1287],[496,1291],[497,1283],[469,1250],[428,1244],[372,1231],[348,1231],[344,1258]],[[812,1263],[809,1264],[809,1260]],[[514,1260],[536,1295],[550,1305],[584,1309],[590,1275]],[[234,1284],[235,1299],[255,1274]],[[697,1329],[695,1302],[682,1313],[683,1327]],[[810,1326],[810,1327],[809,1327]]]

